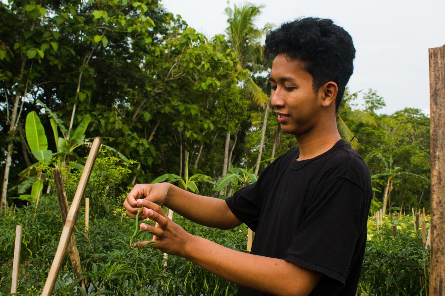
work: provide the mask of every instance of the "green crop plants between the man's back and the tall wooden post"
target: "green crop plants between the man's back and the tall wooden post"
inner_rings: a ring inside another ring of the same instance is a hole
[[[396,237],[392,236],[392,225],[397,225]],[[359,295],[425,293],[429,286],[430,252],[422,246],[421,231],[414,233],[410,229],[413,229],[411,216],[396,216],[392,220],[385,216],[380,229],[376,229],[369,218],[368,242],[359,282],[359,291],[367,294]]]

